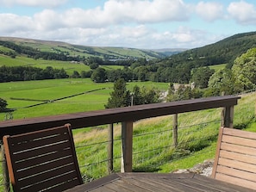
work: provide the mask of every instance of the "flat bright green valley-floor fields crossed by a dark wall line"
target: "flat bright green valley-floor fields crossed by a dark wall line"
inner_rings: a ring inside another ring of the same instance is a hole
[[[167,90],[168,86],[166,83],[133,82],[127,84],[128,90],[132,90],[135,84],[140,87],[158,88],[159,90]],[[86,93],[91,90],[96,91]],[[0,84],[0,97],[8,102],[7,107],[17,108],[13,112],[15,119],[103,109],[104,104],[108,102],[111,91],[113,91],[113,83],[93,83],[90,78],[68,78]],[[45,100],[56,100],[79,93],[84,94],[29,107],[34,104],[43,103]],[[0,120],[4,118],[5,114],[0,114]]]

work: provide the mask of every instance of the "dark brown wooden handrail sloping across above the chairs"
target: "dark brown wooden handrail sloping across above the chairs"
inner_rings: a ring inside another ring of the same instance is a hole
[[[22,120],[1,121],[0,138],[2,139],[3,135],[6,134],[28,133],[46,127],[58,127],[66,123],[71,123],[72,128],[81,128],[116,122],[137,121],[150,117],[180,114],[207,108],[233,108],[237,104],[238,99],[240,99],[240,96],[215,96],[178,102],[137,105],[126,108],[109,108],[68,115],[51,115]],[[225,120],[225,122],[227,121]]]

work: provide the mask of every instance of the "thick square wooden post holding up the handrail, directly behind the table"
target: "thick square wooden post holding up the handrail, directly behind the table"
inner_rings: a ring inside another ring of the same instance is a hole
[[[121,172],[132,172],[133,166],[133,121],[122,122]]]

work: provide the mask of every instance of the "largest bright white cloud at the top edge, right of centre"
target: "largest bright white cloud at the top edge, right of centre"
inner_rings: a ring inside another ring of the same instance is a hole
[[[188,19],[182,0],[118,1],[109,0],[103,11],[118,22],[172,22]]]

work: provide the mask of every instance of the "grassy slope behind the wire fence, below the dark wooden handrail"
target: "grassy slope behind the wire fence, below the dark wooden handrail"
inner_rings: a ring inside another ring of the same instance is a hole
[[[239,104],[234,108],[234,127],[247,128],[256,132],[254,123],[256,93],[242,96]],[[202,163],[203,160],[215,157],[216,138],[220,127],[221,108],[207,109],[203,111],[190,112],[178,115],[178,150],[170,147],[172,144],[172,115],[137,121],[134,123],[134,171],[159,171],[170,172],[172,170],[190,168],[195,164]],[[193,126],[195,125],[195,126]],[[120,155],[121,127],[115,127],[115,157]],[[145,136],[140,136],[144,134]],[[76,130],[74,138],[78,146],[90,143],[98,143],[107,140],[107,130],[93,129],[90,133],[83,130]],[[138,138],[136,137],[138,136]],[[166,147],[169,146],[169,147]],[[160,150],[153,151],[159,148]],[[106,146],[91,146],[89,151],[79,152],[80,164],[95,163],[97,160],[106,158]],[[140,153],[141,151],[148,151]],[[91,157],[90,154],[96,156]],[[141,161],[142,160],[142,161]],[[119,171],[119,164],[115,164],[115,170]],[[106,164],[93,168],[93,177],[101,177],[106,173]],[[84,174],[89,174],[89,170],[82,169]]]

